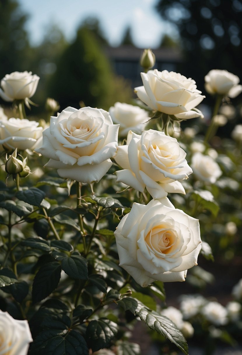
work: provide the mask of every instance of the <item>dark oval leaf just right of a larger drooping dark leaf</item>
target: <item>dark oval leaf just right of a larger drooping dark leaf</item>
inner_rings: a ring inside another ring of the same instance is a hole
[[[88,280],[88,262],[82,256],[72,255],[63,258],[61,267],[73,279]]]

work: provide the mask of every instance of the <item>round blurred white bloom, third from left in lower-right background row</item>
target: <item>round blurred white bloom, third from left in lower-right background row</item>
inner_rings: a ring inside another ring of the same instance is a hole
[[[202,315],[212,324],[223,326],[227,323],[227,310],[219,302],[209,302],[201,310]]]

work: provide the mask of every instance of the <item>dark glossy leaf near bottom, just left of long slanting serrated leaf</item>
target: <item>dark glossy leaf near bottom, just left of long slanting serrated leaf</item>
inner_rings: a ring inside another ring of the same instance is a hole
[[[109,346],[118,333],[118,325],[105,318],[91,321],[86,328],[86,339],[92,351]]]

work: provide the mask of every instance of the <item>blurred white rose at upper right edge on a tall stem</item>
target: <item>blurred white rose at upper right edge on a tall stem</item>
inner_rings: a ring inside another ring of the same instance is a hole
[[[205,89],[209,94],[219,94],[228,97],[236,97],[242,91],[238,85],[240,79],[227,70],[213,69],[204,78]]]

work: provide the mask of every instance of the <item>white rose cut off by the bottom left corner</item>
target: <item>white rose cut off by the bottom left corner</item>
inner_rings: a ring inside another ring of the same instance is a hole
[[[0,354],[26,355],[33,342],[28,321],[18,321],[0,311]]]

